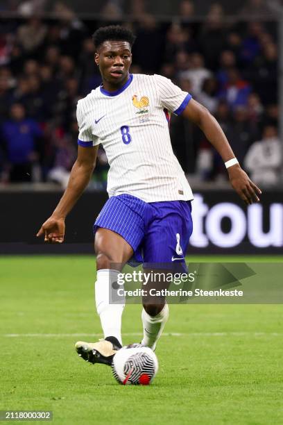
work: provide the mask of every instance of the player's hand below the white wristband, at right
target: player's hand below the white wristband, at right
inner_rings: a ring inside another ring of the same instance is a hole
[[[252,183],[248,174],[241,169],[239,164],[229,167],[228,174],[232,188],[236,190],[237,194],[239,194],[241,199],[243,199],[247,205],[259,202],[261,190],[257,188],[255,183]]]

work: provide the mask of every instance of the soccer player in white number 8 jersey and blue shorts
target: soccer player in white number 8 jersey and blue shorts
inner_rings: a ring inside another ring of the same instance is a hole
[[[182,115],[202,129],[223,158],[230,183],[243,201],[259,201],[261,193],[241,169],[221,127],[206,108],[168,78],[130,74],[134,41],[132,32],[121,26],[106,26],[94,33],[94,60],[103,83],[78,101],[78,158],[62,199],[37,233],[44,235],[46,242],[63,242],[65,217],[89,183],[98,145],[103,144],[110,164],[109,199],[94,223],[94,250],[96,309],[105,339],[77,342],[76,351],[91,363],[108,365],[121,348],[124,308],[124,303],[110,303],[110,281],[117,281],[132,257],[143,261],[144,267],[185,263],[193,195],[171,147],[170,113]],[[169,308],[164,299],[161,303],[143,300],[143,305],[141,343],[155,349]]]

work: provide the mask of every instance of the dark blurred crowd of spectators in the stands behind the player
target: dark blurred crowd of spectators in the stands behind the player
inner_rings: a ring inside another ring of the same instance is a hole
[[[62,2],[52,3],[56,19],[43,19],[44,0],[6,1],[7,8],[22,8],[26,15],[3,19],[0,30],[1,183],[67,184],[76,159],[76,103],[101,83],[91,35],[98,26],[119,23],[125,5],[104,3],[104,20],[98,21],[79,19]],[[221,124],[252,178],[266,187],[278,185],[277,26],[257,20],[259,13],[272,17],[266,2],[246,1],[234,20],[225,19],[221,3],[211,3],[205,22],[192,19],[192,0],[180,1],[170,22],[157,21],[146,1],[128,3],[133,20],[125,24],[137,35],[132,72],[162,74],[191,92]],[[249,14],[250,22],[241,14]],[[173,117],[171,138],[186,174],[199,181],[227,178],[221,158],[196,126]],[[107,172],[101,148],[96,188],[105,188]]]

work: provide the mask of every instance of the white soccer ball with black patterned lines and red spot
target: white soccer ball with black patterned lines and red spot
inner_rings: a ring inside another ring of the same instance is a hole
[[[155,353],[141,344],[122,347],[112,362],[114,378],[122,385],[148,385],[153,381],[157,370]]]

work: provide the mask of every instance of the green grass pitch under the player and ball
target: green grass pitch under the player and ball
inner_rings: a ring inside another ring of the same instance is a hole
[[[283,423],[282,305],[170,306],[153,385],[123,387],[74,351],[101,332],[94,280],[88,256],[0,258],[0,410],[53,410],[58,425]],[[124,344],[141,340],[140,314],[126,306]]]

